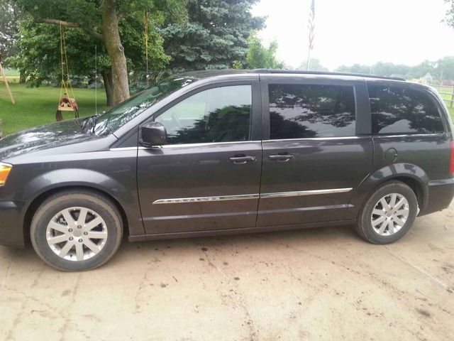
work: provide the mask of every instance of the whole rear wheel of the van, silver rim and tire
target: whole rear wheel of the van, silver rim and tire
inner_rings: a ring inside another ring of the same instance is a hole
[[[373,244],[389,244],[409,231],[418,213],[418,200],[408,185],[390,181],[373,193],[358,217],[358,234]]]

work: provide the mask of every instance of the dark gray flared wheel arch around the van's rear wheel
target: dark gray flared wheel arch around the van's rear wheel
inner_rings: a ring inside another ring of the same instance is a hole
[[[360,212],[360,208],[364,205],[365,200],[367,200],[367,197],[375,188],[393,178],[411,178],[416,180],[422,195],[422,205],[419,208],[423,211],[428,201],[429,179],[426,172],[424,172],[422,168],[411,163],[394,163],[367,175],[367,177],[361,181],[350,199],[350,205],[353,205],[353,207],[348,209],[345,214],[345,219],[355,219]]]

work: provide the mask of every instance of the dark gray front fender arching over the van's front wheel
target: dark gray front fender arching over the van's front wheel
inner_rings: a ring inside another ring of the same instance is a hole
[[[118,180],[106,174],[83,168],[62,168],[41,173],[23,185],[21,200],[24,202],[22,217],[25,217],[31,203],[43,193],[58,188],[93,188],[114,197],[126,213],[131,234],[143,234],[143,224],[138,204],[137,190],[128,190]]]

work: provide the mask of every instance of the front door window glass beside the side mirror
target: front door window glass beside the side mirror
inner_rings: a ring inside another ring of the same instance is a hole
[[[216,87],[194,94],[155,121],[167,129],[169,144],[248,141],[250,85]]]

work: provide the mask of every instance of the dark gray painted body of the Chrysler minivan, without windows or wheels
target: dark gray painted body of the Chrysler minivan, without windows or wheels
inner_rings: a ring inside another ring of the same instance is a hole
[[[138,144],[140,124],[192,93],[235,82],[249,82],[257,90],[260,89],[259,81],[263,91],[255,91],[253,95],[250,142],[162,149],[145,149]],[[264,89],[267,82],[277,81],[355,84],[356,134],[360,139],[307,140],[296,144],[292,141],[267,142],[269,124]],[[354,222],[371,191],[391,178],[415,181],[421,190],[421,215],[447,207],[454,195],[454,181],[448,173],[452,130],[441,99],[430,88],[409,82],[371,79],[367,82],[392,83],[431,93],[443,112],[445,134],[395,138],[371,136],[370,108],[365,80],[361,77],[257,73],[217,73],[210,77],[208,72],[201,80],[170,94],[104,138],[82,134],[77,120],[7,136],[0,140],[0,161],[13,164],[13,171],[6,185],[0,187],[0,244],[23,245],[36,205],[53,191],[70,186],[93,188],[115,200],[124,213],[131,240]],[[389,148],[395,148],[398,153],[397,159],[391,163],[384,157]],[[297,154],[293,163],[278,167],[267,161],[267,154],[271,151],[288,150]],[[257,161],[246,165],[227,163],[226,158],[236,153],[254,153]],[[340,156],[336,161],[333,160],[335,155]],[[321,162],[321,166],[316,166],[316,162]],[[289,171],[287,166],[291,164],[297,171]],[[175,207],[172,204],[167,207],[159,205],[159,209],[153,207],[155,198],[165,196],[238,195],[253,194],[251,192],[257,190],[267,193],[327,187],[352,187],[353,190],[345,195],[313,196],[310,202],[306,197],[295,200],[296,203],[287,200],[272,205],[260,199],[248,203],[234,200],[222,204],[199,202]],[[138,189],[142,193],[141,200]],[[301,209],[301,212],[292,212],[294,209]],[[262,219],[264,211],[271,213],[265,213],[267,217]],[[160,223],[156,224],[157,221]]]

